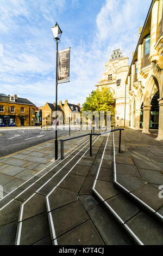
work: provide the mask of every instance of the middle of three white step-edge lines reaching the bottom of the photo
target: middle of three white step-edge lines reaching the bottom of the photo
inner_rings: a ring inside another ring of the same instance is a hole
[[[94,138],[93,138],[93,139],[94,139]],[[95,141],[93,142],[93,144],[94,144],[94,143],[96,142],[96,140],[98,140],[98,139],[99,139],[99,136],[97,137],[97,139],[95,139]],[[88,143],[88,144],[89,144],[89,143]],[[92,145],[93,145],[93,144],[92,144]],[[89,147],[89,148],[90,148],[90,147]],[[86,150],[86,152],[89,151],[89,148]],[[83,154],[83,156],[86,154],[86,152]],[[79,160],[82,159],[83,156],[80,157]],[[79,160],[77,161],[77,163],[79,162]],[[77,163],[74,164],[74,166],[76,166]],[[71,170],[74,168],[74,166],[70,169],[70,171],[68,171],[68,174],[71,172]],[[67,175],[68,175],[68,174],[67,174]],[[64,178],[65,178],[67,175],[65,175]],[[62,178],[62,180],[57,184],[57,186],[55,186],[55,188],[57,188],[57,187],[59,186],[59,184],[64,180],[64,178]],[[53,193],[53,191],[55,190],[55,188],[52,189],[52,191],[47,195],[47,197],[46,197],[46,203],[47,203],[48,211],[49,211],[49,212],[48,212],[48,216],[49,216],[49,221],[50,221],[51,228],[52,228],[53,240],[56,242],[55,245],[58,245],[58,243],[57,243],[57,237],[56,237],[56,235],[55,235],[54,223],[53,223],[53,219],[52,219],[52,211],[51,211],[51,207],[49,206],[49,200],[48,200],[49,195],[51,195],[51,194]]]

